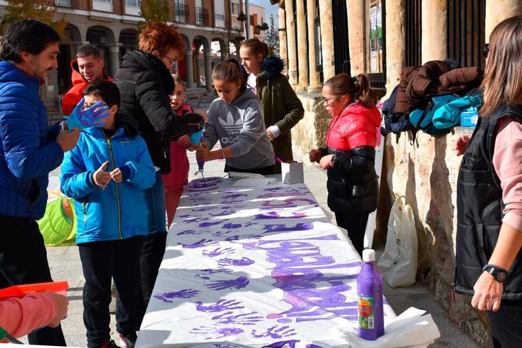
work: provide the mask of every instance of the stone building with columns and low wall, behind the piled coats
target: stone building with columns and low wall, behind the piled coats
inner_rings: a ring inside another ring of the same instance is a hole
[[[277,2],[277,0],[272,0]],[[485,43],[495,25],[522,14],[522,0],[280,0],[281,56],[298,92],[305,116],[292,130],[293,148],[306,153],[324,146],[331,117],[320,90],[331,76],[368,74],[387,99],[402,68],[435,59],[456,59],[463,67],[483,68]],[[417,278],[448,310],[448,316],[481,347],[490,347],[487,315],[470,306],[470,298],[452,300],[457,231],[457,174],[461,158],[452,145],[463,133],[457,127],[441,136],[419,132],[416,139],[386,136],[384,167],[374,244],[386,238],[395,196],[413,207],[419,256]],[[413,145],[411,141],[413,140]]]

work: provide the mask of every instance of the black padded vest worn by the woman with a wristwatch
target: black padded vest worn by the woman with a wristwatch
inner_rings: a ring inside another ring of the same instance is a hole
[[[499,239],[504,204],[493,152],[497,125],[503,117],[522,123],[522,107],[501,105],[492,115],[480,117],[459,170],[454,285],[459,294],[473,295],[473,286]],[[504,285],[503,299],[522,300],[522,251]]]

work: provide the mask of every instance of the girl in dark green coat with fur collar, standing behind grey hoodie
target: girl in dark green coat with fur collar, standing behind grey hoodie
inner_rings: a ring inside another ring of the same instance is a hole
[[[304,108],[291,85],[281,72],[284,63],[279,57],[269,57],[266,43],[248,39],[241,44],[240,56],[247,71],[247,84],[258,94],[264,125],[273,144],[275,156],[282,161],[293,160],[291,132],[304,116]],[[281,165],[277,163],[278,173]]]

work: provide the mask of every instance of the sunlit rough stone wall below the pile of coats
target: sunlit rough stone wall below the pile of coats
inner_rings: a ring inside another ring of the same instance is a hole
[[[442,136],[417,134],[411,145],[408,134],[386,136],[384,168],[377,218],[377,245],[384,244],[386,223],[393,198],[406,196],[413,208],[419,254],[417,279],[433,291],[452,321],[481,347],[490,347],[490,325],[485,314],[470,306],[471,298],[451,299],[457,233],[457,175],[461,157],[452,146],[469,128],[457,127]],[[374,242],[375,243],[375,242]]]

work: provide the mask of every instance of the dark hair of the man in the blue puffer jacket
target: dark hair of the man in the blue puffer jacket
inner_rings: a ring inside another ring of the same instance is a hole
[[[23,19],[9,26],[0,45],[0,57],[6,61],[20,63],[20,52],[40,54],[51,43],[60,42],[60,35],[49,25]]]

